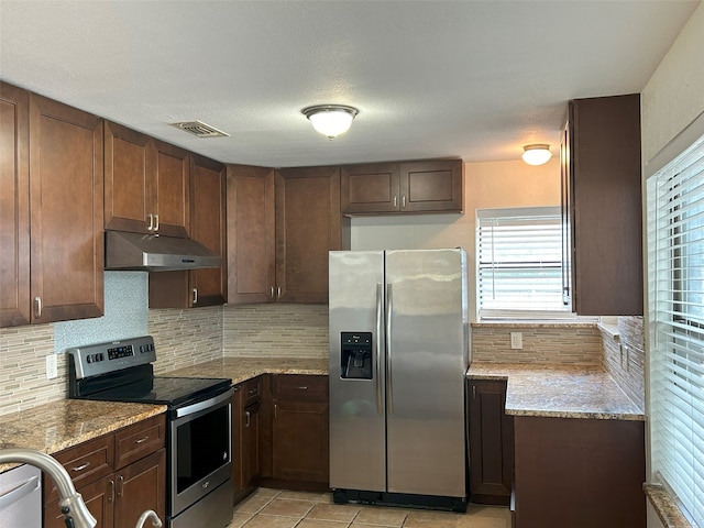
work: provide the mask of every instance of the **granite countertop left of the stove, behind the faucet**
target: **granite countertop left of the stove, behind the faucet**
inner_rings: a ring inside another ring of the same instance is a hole
[[[54,454],[166,411],[165,405],[63,399],[0,417],[0,449]],[[0,464],[0,473],[16,464]]]

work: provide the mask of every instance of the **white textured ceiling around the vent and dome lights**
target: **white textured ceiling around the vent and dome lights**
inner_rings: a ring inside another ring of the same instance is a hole
[[[517,160],[640,91],[698,3],[0,0],[0,78],[221,162]],[[329,141],[300,110],[332,102],[360,113]]]

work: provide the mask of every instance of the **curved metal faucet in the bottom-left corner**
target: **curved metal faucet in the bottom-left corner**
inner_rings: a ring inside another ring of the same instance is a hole
[[[68,476],[64,466],[59,464],[56,459],[34,449],[12,448],[0,450],[0,464],[12,462],[38,468],[54,481],[58,490],[58,506],[64,514],[64,519],[66,519],[66,526],[74,526],[74,528],[94,528],[96,526],[96,519],[90,515],[90,512],[88,512],[80,494],[76,493],[70,476]],[[40,510],[41,518],[41,498],[37,509]],[[70,521],[73,521],[73,525],[69,525]],[[4,524],[2,526],[4,526]],[[28,526],[29,528],[31,525],[10,524],[9,526]]]

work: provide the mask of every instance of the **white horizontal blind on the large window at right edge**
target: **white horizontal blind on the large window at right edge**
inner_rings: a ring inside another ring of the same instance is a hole
[[[704,136],[647,196],[651,465],[704,528]]]

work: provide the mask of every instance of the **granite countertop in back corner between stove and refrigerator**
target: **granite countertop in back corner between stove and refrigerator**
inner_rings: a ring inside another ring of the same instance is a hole
[[[302,358],[223,358],[177,371],[160,373],[160,376],[230,377],[233,384],[245,382],[261,374],[318,374],[327,375],[329,360]]]

